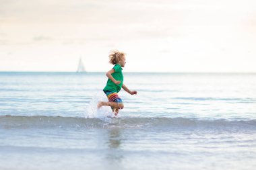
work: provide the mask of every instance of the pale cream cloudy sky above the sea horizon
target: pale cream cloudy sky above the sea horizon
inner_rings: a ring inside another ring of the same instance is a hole
[[[0,71],[256,72],[255,0],[0,0]]]

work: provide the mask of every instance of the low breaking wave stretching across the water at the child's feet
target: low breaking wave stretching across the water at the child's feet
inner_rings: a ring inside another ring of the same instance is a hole
[[[61,116],[0,116],[0,129],[9,128],[227,128],[256,130],[256,120],[195,118],[73,118]]]

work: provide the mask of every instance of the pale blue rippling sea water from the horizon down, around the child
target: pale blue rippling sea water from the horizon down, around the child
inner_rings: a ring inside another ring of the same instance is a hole
[[[256,74],[0,73],[0,169],[255,169]]]

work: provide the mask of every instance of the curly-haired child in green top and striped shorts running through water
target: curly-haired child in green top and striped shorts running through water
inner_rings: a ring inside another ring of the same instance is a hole
[[[109,54],[109,62],[110,64],[115,65],[113,69],[106,72],[106,77],[108,77],[108,81],[103,91],[108,97],[108,101],[99,101],[98,108],[102,105],[108,105],[113,110],[115,116],[119,113],[119,110],[124,108],[123,101],[121,97],[117,93],[123,88],[127,93],[131,95],[136,95],[137,91],[130,91],[125,84],[123,84],[123,73],[122,67],[125,67],[125,53],[119,52],[118,50],[110,51]]]

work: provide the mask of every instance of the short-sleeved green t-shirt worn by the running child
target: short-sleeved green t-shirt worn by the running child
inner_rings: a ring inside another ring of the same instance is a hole
[[[114,77],[115,80],[121,81],[121,83],[119,85],[116,85],[113,81],[108,79],[108,81],[106,82],[106,86],[104,87],[103,90],[113,91],[118,93],[121,90],[123,85],[123,73],[122,73],[123,69],[121,65],[115,65],[113,69],[115,70],[115,73],[112,73],[111,75]]]

